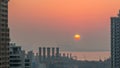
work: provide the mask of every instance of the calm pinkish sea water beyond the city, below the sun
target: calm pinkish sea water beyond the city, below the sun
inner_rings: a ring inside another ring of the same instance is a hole
[[[72,56],[76,56],[78,60],[88,60],[88,61],[99,61],[108,59],[110,57],[110,52],[62,52],[62,53],[72,53]]]

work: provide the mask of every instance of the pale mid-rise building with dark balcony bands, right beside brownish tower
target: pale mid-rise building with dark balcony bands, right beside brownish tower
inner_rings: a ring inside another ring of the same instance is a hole
[[[10,44],[10,68],[24,68],[24,56],[20,46]]]

